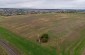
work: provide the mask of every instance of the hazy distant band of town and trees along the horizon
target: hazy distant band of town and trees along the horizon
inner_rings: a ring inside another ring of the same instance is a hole
[[[85,12],[80,9],[18,9],[18,8],[0,8],[1,16],[40,14],[40,13],[76,13]]]

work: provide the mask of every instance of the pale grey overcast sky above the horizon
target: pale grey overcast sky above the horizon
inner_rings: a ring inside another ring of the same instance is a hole
[[[0,8],[85,9],[85,0],[0,0]]]

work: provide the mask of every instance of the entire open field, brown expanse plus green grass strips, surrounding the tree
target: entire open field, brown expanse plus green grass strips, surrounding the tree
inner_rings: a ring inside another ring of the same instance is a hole
[[[85,14],[8,16],[1,19],[0,26],[7,29],[0,28],[4,39],[16,44],[16,47],[23,49],[22,52],[26,54],[39,55],[41,52],[42,55],[85,55]],[[6,35],[2,31],[6,32]],[[36,40],[44,33],[49,35],[50,40],[40,44]]]

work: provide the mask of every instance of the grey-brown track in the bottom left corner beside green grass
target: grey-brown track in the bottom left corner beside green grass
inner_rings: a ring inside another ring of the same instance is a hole
[[[8,55],[18,55],[18,54],[14,51],[14,49],[8,45],[7,42],[5,42],[5,41],[3,41],[3,40],[0,40],[0,45],[1,45],[3,48],[6,49]]]

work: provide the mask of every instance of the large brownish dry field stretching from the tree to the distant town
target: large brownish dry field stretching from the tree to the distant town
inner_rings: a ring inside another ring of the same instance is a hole
[[[58,55],[79,55],[81,47],[85,47],[83,45],[85,38],[82,34],[84,33],[82,30],[85,29],[85,14],[32,14],[8,16],[1,20],[1,27],[37,44],[38,37],[47,33],[50,40],[41,43],[41,46],[56,48]]]

